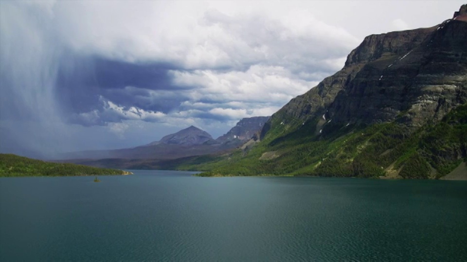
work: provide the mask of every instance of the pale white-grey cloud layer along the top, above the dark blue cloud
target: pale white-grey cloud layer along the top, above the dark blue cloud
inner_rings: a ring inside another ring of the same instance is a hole
[[[56,31],[63,43],[78,53],[183,69],[240,69],[271,60],[295,64],[292,60],[302,58],[302,52],[342,57],[359,42],[306,10],[291,9],[279,17],[260,11],[229,15],[219,10],[226,10],[222,4],[217,9],[209,5],[67,1],[56,3],[54,20],[60,22]]]

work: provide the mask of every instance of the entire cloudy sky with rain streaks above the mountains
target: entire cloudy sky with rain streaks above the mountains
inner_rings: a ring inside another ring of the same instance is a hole
[[[342,68],[366,35],[431,27],[464,0],[0,1],[0,152],[214,138]]]

